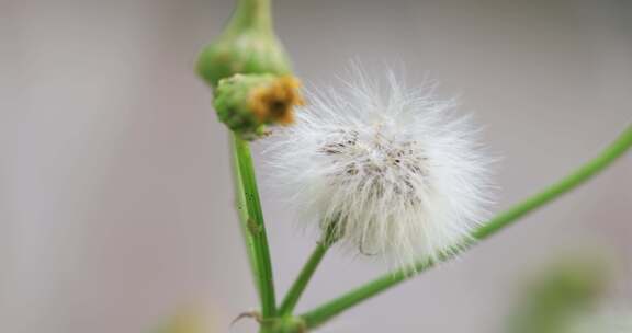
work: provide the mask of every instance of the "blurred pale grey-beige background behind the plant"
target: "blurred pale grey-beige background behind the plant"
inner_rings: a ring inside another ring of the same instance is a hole
[[[308,84],[327,83],[360,58],[404,64],[411,79],[428,74],[445,96],[460,94],[504,158],[495,210],[594,157],[632,120],[631,1],[273,4],[278,33]],[[193,72],[233,5],[0,0],[1,332],[151,332],[182,311],[227,332],[257,306],[227,133]],[[500,332],[524,280],[577,251],[609,253],[618,277],[603,307],[631,310],[631,188],[629,154],[320,332]],[[315,239],[297,231],[266,186],[262,195],[283,292]],[[300,309],[384,269],[331,254]],[[255,328],[245,320],[232,332]]]

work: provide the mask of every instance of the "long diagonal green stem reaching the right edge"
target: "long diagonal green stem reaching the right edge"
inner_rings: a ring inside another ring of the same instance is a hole
[[[564,193],[577,187],[582,183],[595,174],[602,171],[606,166],[610,165],[617,158],[621,157],[632,146],[632,126],[629,126],[610,146],[608,146],[599,156],[582,165],[575,172],[571,173],[561,181],[550,185],[542,192],[527,198],[526,200],[509,208],[505,213],[497,215],[495,218],[486,222],[484,226],[475,230],[472,236],[475,240],[483,240],[487,237],[498,232],[500,229],[511,225],[519,218],[529,214],[530,211],[542,207],[551,200],[560,197]],[[464,251],[471,243],[462,246],[456,246],[452,251],[448,251],[441,257],[441,261],[454,256],[456,253]],[[422,261],[416,265],[416,273],[421,273],[436,263],[432,261]],[[318,326],[329,319],[336,317],[342,311],[366,300],[397,284],[410,278],[414,274],[409,269],[398,269],[379,277],[357,289],[349,291],[309,312],[301,315],[305,321],[307,328]]]

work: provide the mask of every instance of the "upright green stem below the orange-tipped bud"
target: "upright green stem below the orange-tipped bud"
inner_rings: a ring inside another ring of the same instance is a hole
[[[274,317],[276,301],[274,297],[274,282],[272,277],[272,262],[270,260],[270,250],[268,248],[268,238],[266,236],[266,226],[263,223],[263,213],[259,200],[257,190],[257,179],[255,168],[252,166],[252,157],[248,142],[233,134],[235,159],[236,159],[236,179],[238,184],[238,197],[242,198],[246,204],[246,211],[240,216],[246,218],[246,229],[249,254],[253,255],[256,262],[257,286],[259,299],[261,301],[261,315],[263,319]]]

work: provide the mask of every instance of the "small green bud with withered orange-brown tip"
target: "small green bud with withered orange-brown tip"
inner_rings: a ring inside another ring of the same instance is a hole
[[[267,134],[267,125],[294,122],[294,106],[304,104],[300,87],[291,76],[235,74],[219,80],[215,111],[228,128],[253,140]]]

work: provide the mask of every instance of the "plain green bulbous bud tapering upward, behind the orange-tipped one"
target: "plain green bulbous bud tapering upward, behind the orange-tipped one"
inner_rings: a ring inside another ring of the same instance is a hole
[[[270,0],[239,0],[224,33],[200,54],[198,72],[213,88],[236,73],[290,74],[290,61],[272,30]]]

